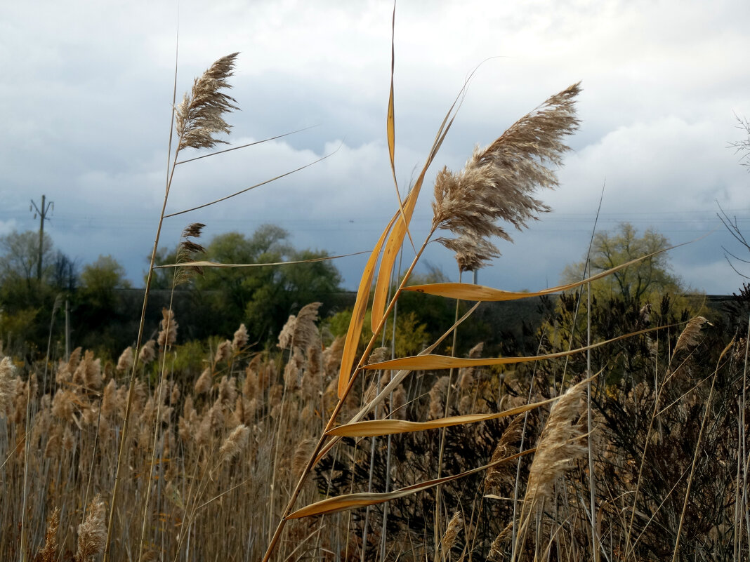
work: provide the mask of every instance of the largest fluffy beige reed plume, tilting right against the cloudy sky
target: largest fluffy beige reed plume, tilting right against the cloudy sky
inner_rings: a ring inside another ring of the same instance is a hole
[[[520,230],[539,213],[550,211],[532,195],[537,188],[558,185],[550,166],[562,163],[562,154],[569,150],[562,139],[578,128],[579,84],[524,115],[487,148],[476,148],[460,172],[438,172],[432,226],[455,235],[437,241],[455,251],[461,271],[483,268],[500,255],[490,237],[512,241],[498,221]]]

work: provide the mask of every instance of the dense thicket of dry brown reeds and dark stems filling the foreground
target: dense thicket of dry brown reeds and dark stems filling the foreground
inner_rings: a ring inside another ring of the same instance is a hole
[[[165,312],[158,342],[146,345],[136,361],[140,372],[151,361],[164,362],[168,375],[160,385],[148,378],[136,383],[136,427],[127,438],[122,500],[115,506],[113,558],[136,559],[142,548],[145,560],[258,560],[338,402],[342,342],[323,347],[314,303],[290,318],[278,351],[252,351],[240,327],[233,340],[205,350],[204,372],[188,382],[169,367],[177,324]],[[748,555],[745,340],[725,345],[728,324],[715,324],[697,320],[682,333],[634,336],[626,340],[634,345],[628,364],[637,368],[611,361],[595,378],[600,559],[670,558],[678,532],[678,560]],[[383,357],[386,350],[375,354]],[[481,345],[470,356],[481,356]],[[130,348],[117,365],[77,349],[54,367],[50,391],[41,393],[39,372],[2,359],[4,559],[19,559],[22,550],[27,560],[98,559],[124,417],[123,373],[132,362]],[[566,368],[577,374],[565,375]],[[413,373],[368,419],[493,413],[544,401],[563,385],[569,399],[551,409],[447,429],[443,474],[533,447],[536,452],[444,486],[446,529],[437,549],[435,497],[426,491],[388,504],[385,525],[383,504],[294,520],[278,557],[378,560],[385,549],[388,560],[508,560],[515,537],[517,559],[593,559],[581,372],[575,357],[567,367],[559,359],[514,369],[464,368],[450,393],[445,372]],[[363,378],[344,417],[352,417],[390,375]],[[439,454],[437,430],[346,438],[320,462],[301,498],[310,503],[430,480]],[[529,512],[534,516],[523,525]]]

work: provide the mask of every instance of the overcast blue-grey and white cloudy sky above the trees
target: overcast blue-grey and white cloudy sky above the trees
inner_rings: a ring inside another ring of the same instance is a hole
[[[293,136],[178,167],[168,211],[179,211],[304,166],[302,172],[166,221],[174,247],[187,223],[205,235],[276,223],[297,247],[371,250],[398,207],[386,147],[389,1],[5,1],[0,5],[0,235],[37,229],[28,211],[54,202],[56,247],[80,261],[111,254],[138,285],[166,177],[175,45],[178,97],[211,62],[239,51],[229,115],[242,145]],[[479,274],[508,290],[556,285],[583,256],[602,185],[598,227],[629,221],[673,244],[676,274],[709,294],[742,279],[722,246],[741,253],[717,202],[750,235],[750,175],[727,145],[750,116],[750,2],[409,1],[396,10],[396,163],[402,187],[421,168],[466,76],[481,64],[425,181],[413,222],[431,222],[434,174],[458,170],[551,94],[582,81],[580,132],[542,193],[553,212]],[[489,59],[489,60],[487,60]],[[746,250],[745,250],[746,252]],[[743,257],[748,257],[744,256]],[[425,262],[453,279],[452,253]],[[355,288],[364,258],[337,262]],[[747,268],[750,272],[750,267]],[[748,273],[750,274],[750,273]]]

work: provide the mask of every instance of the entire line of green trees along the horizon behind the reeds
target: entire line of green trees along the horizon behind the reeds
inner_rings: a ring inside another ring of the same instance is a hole
[[[623,223],[613,232],[601,232],[592,241],[591,274],[669,247],[666,237],[648,229],[639,234]],[[42,265],[37,279],[41,249]],[[284,229],[264,225],[250,235],[227,232],[216,235],[205,247],[196,245],[196,259],[224,264],[301,262],[327,257],[322,250],[298,249]],[[585,256],[584,256],[585,258]],[[180,261],[178,248],[162,248],[157,265]],[[583,262],[568,265],[562,282],[580,280]],[[329,341],[346,333],[351,318],[353,294],[341,286],[341,274],[334,262],[317,261],[298,265],[252,268],[205,268],[175,284],[175,268],[158,268],[152,279],[149,300],[149,331],[157,330],[162,307],[172,307],[179,324],[179,341],[227,337],[245,324],[249,341],[259,349],[275,345],[281,327],[290,315],[307,303],[320,301],[321,318]],[[415,277],[413,282],[441,282],[448,278],[440,270]],[[179,281],[179,279],[178,279]],[[145,278],[144,278],[145,282]],[[690,303],[688,289],[671,271],[668,253],[620,270],[592,284],[594,312],[601,318],[622,315],[638,318],[643,306],[665,306],[677,317]],[[11,232],[0,237],[0,340],[6,354],[26,354],[29,360],[43,358],[47,346],[51,356],[63,357],[68,349],[83,346],[98,354],[116,357],[133,345],[137,333],[140,289],[131,287],[124,268],[113,256],[99,256],[80,265],[44,235]],[[562,300],[532,299],[516,303],[484,303],[458,331],[455,350],[451,343],[444,352],[465,353],[477,342],[497,354],[534,351],[540,331],[571,333],[573,324],[585,321],[585,314],[571,316],[580,308],[580,294]],[[669,300],[668,306],[664,297]],[[472,303],[459,303],[463,314]],[[68,312],[69,332],[65,331]],[[585,309],[585,303],[584,303]],[[619,311],[619,312],[617,312]],[[583,311],[582,311],[583,312]],[[456,305],[446,299],[420,293],[404,294],[399,301],[395,327],[384,330],[383,345],[395,334],[399,355],[415,354],[439,337],[453,323]],[[546,322],[546,324],[544,324]],[[368,324],[366,322],[366,324]],[[544,328],[544,325],[546,328]],[[628,324],[628,322],[625,322]],[[574,328],[582,333],[583,325]],[[363,337],[368,336],[364,333]]]

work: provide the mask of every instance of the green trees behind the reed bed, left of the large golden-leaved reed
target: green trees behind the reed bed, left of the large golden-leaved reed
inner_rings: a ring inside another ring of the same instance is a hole
[[[10,232],[0,237],[0,336],[6,354],[43,357],[48,343],[52,357],[65,349],[65,304],[68,305],[68,348],[83,346],[108,355],[133,344],[137,333],[138,300],[122,265],[113,256],[99,256],[80,265],[52,238],[38,232]],[[37,263],[41,250],[41,275]],[[202,259],[223,263],[302,261],[326,257],[320,250],[299,250],[278,226],[261,226],[252,235],[228,232],[202,248]],[[175,263],[176,250],[161,249],[159,265]],[[148,318],[153,329],[160,309],[177,310],[184,339],[205,339],[233,333],[245,323],[251,342],[266,345],[290,314],[314,300],[327,304],[341,299],[341,274],[332,262],[282,268],[206,269],[179,285],[172,294],[174,269],[158,269]],[[145,280],[144,280],[145,282]],[[130,291],[128,289],[131,289]],[[161,289],[161,291],[159,290]]]

